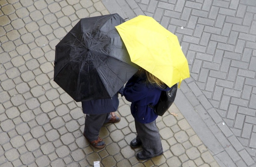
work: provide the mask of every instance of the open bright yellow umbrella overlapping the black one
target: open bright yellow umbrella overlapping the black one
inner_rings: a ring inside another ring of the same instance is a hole
[[[116,26],[131,61],[171,87],[190,77],[176,35],[152,17],[139,15]]]

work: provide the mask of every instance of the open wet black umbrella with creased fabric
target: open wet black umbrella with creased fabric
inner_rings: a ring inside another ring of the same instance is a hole
[[[53,80],[75,101],[111,98],[133,76],[117,13],[81,19],[56,45]]]

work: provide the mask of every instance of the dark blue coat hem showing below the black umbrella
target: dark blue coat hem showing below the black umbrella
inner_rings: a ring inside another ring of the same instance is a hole
[[[118,94],[115,94],[112,99],[82,101],[84,114],[103,114],[114,112],[117,110],[118,105]]]

